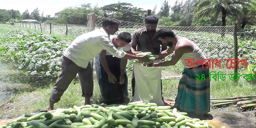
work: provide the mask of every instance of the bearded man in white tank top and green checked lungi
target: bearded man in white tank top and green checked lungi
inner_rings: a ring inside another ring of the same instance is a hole
[[[210,112],[209,68],[203,68],[203,64],[205,64],[203,59],[206,59],[204,53],[194,42],[186,37],[175,36],[172,30],[169,29],[160,29],[156,32],[155,38],[168,46],[165,51],[159,54],[159,58],[166,57],[173,51],[174,54],[170,61],[153,63],[148,66],[171,66],[181,60],[185,68],[180,78],[174,108],[192,114],[192,116],[203,117]],[[191,59],[195,59],[195,61],[192,62]],[[190,64],[192,62],[194,66],[188,65],[188,61],[190,61]],[[205,79],[196,80],[197,75],[203,75]]]

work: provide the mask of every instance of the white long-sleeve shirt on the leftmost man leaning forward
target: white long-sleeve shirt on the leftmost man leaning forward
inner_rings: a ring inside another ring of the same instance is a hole
[[[126,52],[117,50],[111,40],[103,28],[96,29],[76,37],[63,55],[82,68],[86,68],[89,61],[93,60],[102,50],[107,50],[118,58],[124,57]]]

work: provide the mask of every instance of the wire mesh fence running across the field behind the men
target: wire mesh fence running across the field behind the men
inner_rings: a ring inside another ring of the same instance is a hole
[[[89,16],[88,16],[89,17]],[[58,35],[68,35],[68,36],[79,36],[89,30],[94,30],[102,26],[102,22],[105,17],[95,16],[93,17],[92,24],[87,25],[72,25],[72,24],[35,24],[35,23],[15,23],[16,26],[35,29],[36,31],[41,31],[42,33],[51,33]],[[88,23],[90,20],[88,19]],[[132,23],[127,21],[120,21],[119,26],[120,32],[133,33],[139,28],[145,27],[145,24]],[[91,28],[90,28],[91,27]],[[234,64],[233,68],[231,62],[226,59],[235,59],[236,53],[241,51],[236,50],[236,45],[241,44],[246,40],[254,41],[256,40],[255,32],[236,32],[236,26],[214,26],[214,27],[171,27],[171,26],[158,26],[158,28],[168,28],[172,29],[177,36],[184,36],[195,42],[204,52],[207,59],[211,59],[212,66],[210,71],[215,73],[224,74],[234,74]],[[234,38],[237,35],[237,39]],[[238,44],[236,44],[238,42]],[[170,60],[171,56],[165,58],[165,60]],[[244,60],[248,56],[244,54],[239,54],[238,59]],[[218,63],[220,62],[220,63]],[[252,62],[252,61],[251,61]],[[250,60],[249,60],[250,63]],[[94,66],[94,67],[97,67]],[[183,66],[179,61],[176,65],[177,71],[180,73]],[[169,68],[164,68],[165,71],[170,71]],[[243,74],[246,67],[239,63],[237,72]],[[170,71],[171,72],[171,71]],[[172,75],[171,73],[169,75]],[[230,76],[229,76],[230,77]],[[228,78],[227,78],[228,79]]]

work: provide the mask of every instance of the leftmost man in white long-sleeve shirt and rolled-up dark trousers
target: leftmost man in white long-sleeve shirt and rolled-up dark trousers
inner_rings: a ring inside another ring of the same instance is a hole
[[[120,22],[115,18],[106,18],[102,22],[102,28],[76,37],[68,46],[63,53],[61,74],[53,87],[48,111],[53,110],[54,103],[60,101],[60,97],[67,90],[77,73],[81,82],[82,96],[85,97],[84,104],[90,104],[93,93],[93,75],[90,61],[102,50],[107,50],[118,58],[148,60],[144,57],[117,50],[111,43],[110,35],[114,35],[118,31],[119,24]]]

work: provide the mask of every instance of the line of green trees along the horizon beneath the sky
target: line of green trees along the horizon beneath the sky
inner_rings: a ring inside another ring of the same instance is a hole
[[[87,24],[87,15],[95,13],[102,17],[115,17],[118,20],[134,23],[144,23],[144,17],[155,15],[159,18],[158,25],[164,26],[227,26],[238,22],[239,28],[256,24],[255,0],[176,0],[171,7],[164,0],[159,12],[154,9],[147,11],[130,3],[115,3],[98,7],[82,4],[81,7],[67,7],[60,12],[44,16],[38,8],[29,14],[28,10],[22,14],[18,10],[0,9],[0,23],[22,22],[34,19],[41,22]]]

